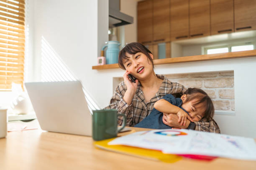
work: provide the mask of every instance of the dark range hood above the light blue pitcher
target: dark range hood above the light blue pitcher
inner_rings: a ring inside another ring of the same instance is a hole
[[[109,28],[132,24],[133,17],[120,12],[120,0],[109,0]]]

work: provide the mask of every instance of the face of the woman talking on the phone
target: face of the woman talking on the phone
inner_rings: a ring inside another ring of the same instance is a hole
[[[153,55],[149,55],[153,59]],[[130,71],[131,75],[138,80],[145,80],[149,75],[153,74],[153,65],[145,54],[142,52],[136,54],[126,53],[126,56],[129,58],[124,61],[125,69]]]

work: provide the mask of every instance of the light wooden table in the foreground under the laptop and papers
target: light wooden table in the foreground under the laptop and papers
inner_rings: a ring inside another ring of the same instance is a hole
[[[132,128],[133,131],[143,130]],[[90,137],[26,130],[0,139],[0,170],[255,170],[256,161],[217,158],[211,162],[183,158],[162,163],[101,150]]]

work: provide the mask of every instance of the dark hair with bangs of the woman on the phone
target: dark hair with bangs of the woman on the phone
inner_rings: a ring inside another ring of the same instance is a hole
[[[129,57],[126,56],[126,52],[128,54],[136,54],[138,52],[142,52],[143,54],[145,54],[148,57],[148,60],[152,63],[153,68],[154,68],[153,60],[149,55],[149,54],[152,54],[152,52],[150,50],[148,50],[148,48],[145,47],[144,45],[142,45],[141,43],[131,42],[131,43],[125,45],[123,47],[123,49],[119,52],[118,65],[123,70],[125,70],[125,66],[123,65],[125,60],[129,59]]]

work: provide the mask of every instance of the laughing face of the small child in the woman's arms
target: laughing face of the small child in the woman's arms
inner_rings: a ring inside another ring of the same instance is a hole
[[[187,99],[187,95],[182,95],[181,99],[182,102],[184,102]],[[204,117],[205,105],[204,103],[194,105],[196,102],[197,99],[185,102],[182,104],[182,107],[189,113],[189,116],[192,118],[192,120],[198,122],[202,119],[202,117]]]

